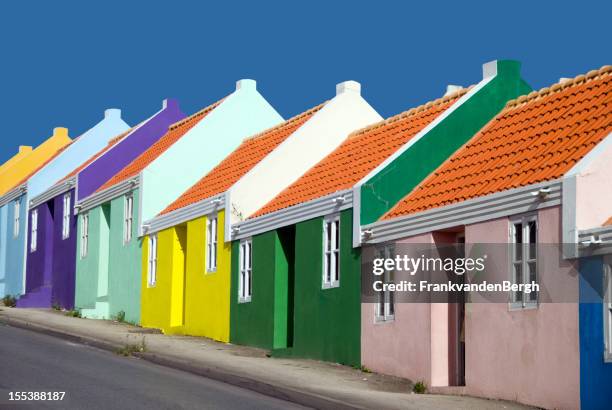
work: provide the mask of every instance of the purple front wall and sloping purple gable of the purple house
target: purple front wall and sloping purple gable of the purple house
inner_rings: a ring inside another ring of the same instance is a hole
[[[164,101],[164,107],[137,130],[113,146],[78,174],[77,195],[81,200],[161,138],[168,126],[184,118],[176,100]],[[85,159],[84,159],[85,160]],[[77,256],[77,218],[74,215],[75,191],[71,195],[70,235],[62,238],[64,194],[57,195],[38,209],[38,243],[30,252],[31,229],[27,234],[26,293],[18,307],[74,308]],[[32,217],[32,211],[28,217]],[[31,225],[30,225],[31,226]]]

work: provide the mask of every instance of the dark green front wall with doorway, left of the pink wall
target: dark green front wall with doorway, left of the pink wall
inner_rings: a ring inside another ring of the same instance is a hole
[[[340,286],[322,289],[323,219],[253,237],[253,296],[238,303],[239,242],[232,246],[230,341],[348,365],[360,364],[360,250],[352,210],[340,220]]]

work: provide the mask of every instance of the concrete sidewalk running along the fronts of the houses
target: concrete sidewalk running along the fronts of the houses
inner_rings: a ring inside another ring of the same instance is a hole
[[[166,336],[124,323],[68,317],[48,309],[0,307],[0,322],[133,355],[164,366],[321,409],[526,409],[505,401],[412,394],[409,381],[313,360],[269,358],[266,351],[205,338]]]

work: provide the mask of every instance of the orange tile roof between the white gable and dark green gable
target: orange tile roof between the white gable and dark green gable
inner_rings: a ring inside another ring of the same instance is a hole
[[[353,187],[467,91],[459,90],[352,133],[252,218]]]

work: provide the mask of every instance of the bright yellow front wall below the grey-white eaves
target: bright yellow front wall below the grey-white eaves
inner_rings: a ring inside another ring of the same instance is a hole
[[[216,272],[206,272],[206,217],[158,233],[157,283],[152,288],[147,285],[148,237],[145,238],[143,326],[159,328],[164,333],[229,341],[231,244],[223,240],[224,217],[220,211]]]

